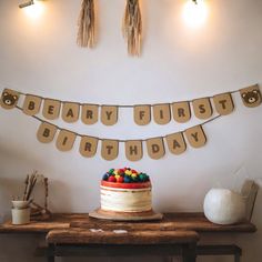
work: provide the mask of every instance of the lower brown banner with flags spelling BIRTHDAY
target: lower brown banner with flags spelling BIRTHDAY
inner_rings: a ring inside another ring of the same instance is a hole
[[[23,108],[17,107],[17,109],[23,111]],[[58,150],[67,152],[74,148],[77,138],[80,138],[79,152],[84,158],[93,158],[97,154],[99,141],[101,142],[101,157],[104,160],[112,161],[119,155],[119,144],[124,143],[125,157],[129,161],[139,161],[143,158],[143,142],[147,147],[148,155],[153,160],[162,159],[165,155],[165,143],[168,149],[173,154],[181,154],[187,150],[187,142],[192,148],[201,148],[206,143],[206,135],[203,130],[203,125],[214,121],[221,115],[216,115],[202,124],[194,125],[184,131],[168,134],[165,137],[149,138],[144,140],[117,140],[117,139],[102,139],[80,134],[67,129],[62,129],[44,120],[31,115],[40,121],[40,127],[37,131],[37,138],[41,143],[50,143],[54,140]],[[165,143],[164,143],[165,141]]]

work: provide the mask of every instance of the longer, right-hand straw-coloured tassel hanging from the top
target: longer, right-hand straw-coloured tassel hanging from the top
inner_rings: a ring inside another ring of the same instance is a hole
[[[129,54],[139,57],[142,41],[142,17],[139,0],[127,0],[122,31],[128,42]]]

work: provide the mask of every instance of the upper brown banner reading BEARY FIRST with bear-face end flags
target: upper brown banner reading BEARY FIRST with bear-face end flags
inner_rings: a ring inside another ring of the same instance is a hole
[[[200,120],[206,120],[212,118],[214,111],[221,115],[230,114],[234,110],[232,94],[236,92],[240,93],[245,107],[254,108],[261,104],[262,95],[258,84],[189,101],[138,105],[68,102],[4,89],[0,104],[4,109],[16,108],[22,94],[24,95],[23,112],[28,115],[36,115],[42,112],[42,115],[48,120],[54,120],[61,117],[67,123],[73,123],[81,119],[84,124],[94,124],[98,122],[100,114],[100,121],[104,125],[113,125],[118,122],[119,108],[131,108],[133,110],[134,123],[138,125],[149,124],[151,122],[151,115],[155,123],[168,124],[171,119],[178,123],[185,123],[190,121],[192,115]]]

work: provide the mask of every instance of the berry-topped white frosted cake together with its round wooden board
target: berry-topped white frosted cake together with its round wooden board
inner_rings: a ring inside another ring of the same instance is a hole
[[[149,175],[130,168],[111,169],[100,184],[100,208],[89,216],[112,221],[161,220],[152,210]]]

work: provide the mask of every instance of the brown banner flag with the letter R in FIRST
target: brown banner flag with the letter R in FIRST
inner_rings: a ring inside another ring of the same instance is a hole
[[[190,102],[172,103],[173,119],[179,123],[185,123],[191,119]]]

